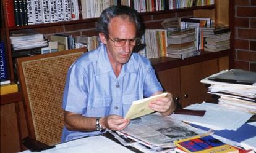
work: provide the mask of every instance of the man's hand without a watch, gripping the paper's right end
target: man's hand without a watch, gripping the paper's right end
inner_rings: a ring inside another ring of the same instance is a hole
[[[155,93],[154,95],[159,94]],[[176,103],[173,101],[173,95],[168,93],[166,97],[157,98],[148,104],[148,107],[154,111],[160,112],[163,116],[169,116],[176,108]]]

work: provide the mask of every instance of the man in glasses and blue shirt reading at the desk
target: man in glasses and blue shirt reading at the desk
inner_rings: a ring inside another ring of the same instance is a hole
[[[105,128],[122,130],[132,101],[163,92],[150,61],[133,53],[140,44],[137,12],[128,6],[105,9],[97,23],[102,44],[85,53],[70,67],[62,108],[62,142],[98,135]],[[149,107],[169,116],[175,103],[171,93]]]

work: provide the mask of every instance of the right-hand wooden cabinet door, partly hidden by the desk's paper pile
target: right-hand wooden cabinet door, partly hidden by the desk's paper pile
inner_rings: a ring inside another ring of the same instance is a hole
[[[195,103],[211,100],[208,85],[200,83],[205,77],[218,72],[218,59],[181,66],[182,108]]]

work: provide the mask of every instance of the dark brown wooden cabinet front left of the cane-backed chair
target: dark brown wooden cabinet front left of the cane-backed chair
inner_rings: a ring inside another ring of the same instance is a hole
[[[1,151],[20,152],[25,149],[22,139],[28,136],[22,101],[1,105]]]

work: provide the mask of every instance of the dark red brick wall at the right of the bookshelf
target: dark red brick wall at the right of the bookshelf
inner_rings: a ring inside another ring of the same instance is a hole
[[[235,68],[256,72],[256,1],[235,0]]]

